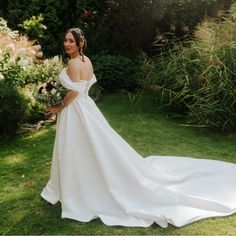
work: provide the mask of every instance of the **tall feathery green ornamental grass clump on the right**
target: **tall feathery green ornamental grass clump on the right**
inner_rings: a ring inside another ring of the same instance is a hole
[[[236,4],[221,20],[200,24],[187,45],[176,43],[148,61],[143,87],[189,124],[235,131]]]

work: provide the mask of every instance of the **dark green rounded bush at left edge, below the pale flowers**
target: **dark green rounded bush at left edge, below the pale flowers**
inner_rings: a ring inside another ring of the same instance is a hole
[[[27,101],[19,91],[0,81],[0,133],[14,134],[25,118]]]

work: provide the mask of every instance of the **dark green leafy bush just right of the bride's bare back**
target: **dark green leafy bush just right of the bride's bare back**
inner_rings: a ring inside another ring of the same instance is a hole
[[[104,89],[138,87],[140,62],[122,55],[95,55],[92,57],[98,84]]]

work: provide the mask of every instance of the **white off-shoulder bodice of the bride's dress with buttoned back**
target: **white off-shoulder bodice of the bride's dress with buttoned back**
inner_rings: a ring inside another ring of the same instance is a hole
[[[69,78],[66,69],[64,68],[59,74],[59,81],[63,87],[69,90],[73,90],[79,93],[79,98],[87,98],[88,92],[91,86],[97,81],[96,76],[93,76],[88,80],[80,80],[78,82],[73,82]]]

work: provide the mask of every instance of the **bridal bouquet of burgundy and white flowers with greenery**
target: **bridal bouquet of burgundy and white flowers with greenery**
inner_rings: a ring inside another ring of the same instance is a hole
[[[43,83],[38,89],[35,99],[47,106],[54,106],[61,103],[66,95],[66,89],[56,80]]]

